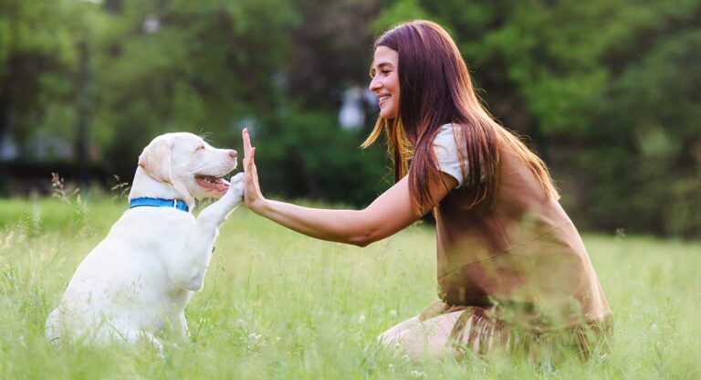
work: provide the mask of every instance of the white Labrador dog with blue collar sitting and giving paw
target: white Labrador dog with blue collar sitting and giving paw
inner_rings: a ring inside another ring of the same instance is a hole
[[[166,133],[139,156],[130,208],[78,265],[47,318],[52,343],[136,343],[189,335],[184,308],[204,286],[218,227],[243,200],[243,173],[229,184],[234,150],[192,133]],[[195,218],[195,199],[220,198]]]

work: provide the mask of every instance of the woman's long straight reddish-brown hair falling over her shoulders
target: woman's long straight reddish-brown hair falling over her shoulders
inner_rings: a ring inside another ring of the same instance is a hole
[[[543,161],[482,106],[465,60],[442,26],[424,20],[400,24],[375,40],[374,48],[381,46],[399,54],[399,116],[378,118],[361,146],[369,146],[385,132],[394,181],[409,172],[409,191],[417,213],[422,205],[435,203],[429,184],[441,176],[432,146],[437,130],[447,123],[460,131],[455,138],[466,174],[466,208],[494,200],[500,149],[514,153],[549,196],[560,198]]]

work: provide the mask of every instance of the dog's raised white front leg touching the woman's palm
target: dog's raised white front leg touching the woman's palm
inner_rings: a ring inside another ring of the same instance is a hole
[[[226,194],[197,216],[187,244],[173,266],[171,279],[176,286],[186,290],[202,289],[218,228],[241,203],[243,196],[244,174],[239,173],[231,179]]]

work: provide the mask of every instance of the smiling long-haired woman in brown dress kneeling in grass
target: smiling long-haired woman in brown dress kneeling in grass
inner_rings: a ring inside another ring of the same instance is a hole
[[[434,210],[441,301],[380,336],[413,358],[502,350],[543,359],[568,348],[587,358],[606,346],[611,311],[545,164],[480,105],[445,30],[428,21],[389,30],[375,42],[371,78],[380,115],[363,147],[384,131],[392,188],[360,211],[268,200],[244,131],[246,205],[361,247]]]

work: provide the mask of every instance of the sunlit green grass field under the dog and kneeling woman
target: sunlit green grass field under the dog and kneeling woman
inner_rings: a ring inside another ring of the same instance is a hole
[[[137,347],[53,347],[44,339],[83,257],[124,203],[90,197],[0,200],[0,379],[701,378],[701,244],[585,235],[615,314],[605,364],[554,370],[516,358],[413,364],[375,337],[435,298],[431,227],[368,248],[322,242],[240,207],[217,240],[192,337]]]

